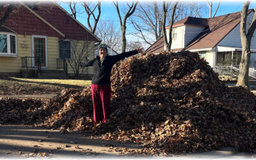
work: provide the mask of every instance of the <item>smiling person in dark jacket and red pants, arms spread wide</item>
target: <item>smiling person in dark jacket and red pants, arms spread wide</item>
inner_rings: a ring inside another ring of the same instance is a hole
[[[138,54],[144,51],[144,48],[138,48],[134,51],[124,52],[115,56],[108,55],[108,47],[106,44],[98,46],[99,56],[96,56],[87,63],[80,62],[80,67],[93,66],[93,78],[91,84],[92,100],[93,100],[93,124],[99,122],[106,123],[110,116],[110,98],[111,98],[111,82],[110,74],[113,65],[124,58]]]

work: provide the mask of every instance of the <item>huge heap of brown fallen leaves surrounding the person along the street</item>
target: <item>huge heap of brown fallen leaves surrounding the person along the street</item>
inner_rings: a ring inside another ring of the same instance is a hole
[[[222,147],[255,152],[256,97],[250,90],[225,86],[196,53],[132,56],[113,67],[111,82],[112,114],[106,124],[97,127],[92,123],[89,88],[63,90],[42,104],[27,101],[38,105],[37,113],[44,117],[36,121],[41,122],[40,126],[90,131],[99,138],[145,146],[131,151],[134,153],[164,155]],[[12,102],[3,100],[0,110]],[[22,103],[27,104],[26,100]],[[19,108],[19,103],[15,105]],[[12,112],[7,110],[1,113]]]

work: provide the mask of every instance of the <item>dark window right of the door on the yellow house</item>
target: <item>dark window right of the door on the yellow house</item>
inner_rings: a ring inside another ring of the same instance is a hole
[[[72,58],[72,45],[70,40],[63,40],[59,42],[60,58]]]

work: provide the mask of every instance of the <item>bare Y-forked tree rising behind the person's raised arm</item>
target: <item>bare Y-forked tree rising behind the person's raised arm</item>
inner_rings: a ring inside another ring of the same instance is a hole
[[[122,52],[125,52],[125,48],[126,48],[126,37],[125,37],[125,33],[126,33],[126,22],[127,19],[134,13],[134,11],[136,10],[136,6],[138,4],[138,1],[136,1],[135,3],[132,2],[131,4],[129,4],[127,2],[127,6],[128,6],[128,11],[125,13],[124,16],[124,20],[122,20],[121,15],[120,15],[120,11],[119,11],[119,6],[118,6],[118,2],[113,2],[116,6],[116,12],[118,14],[119,17],[119,21],[120,21],[120,28],[122,31]]]

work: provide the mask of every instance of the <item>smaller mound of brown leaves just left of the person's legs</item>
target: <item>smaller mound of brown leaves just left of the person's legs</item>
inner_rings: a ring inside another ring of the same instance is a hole
[[[90,88],[66,89],[49,104],[51,115],[38,126],[81,132],[92,129],[92,93]]]

